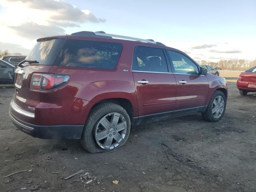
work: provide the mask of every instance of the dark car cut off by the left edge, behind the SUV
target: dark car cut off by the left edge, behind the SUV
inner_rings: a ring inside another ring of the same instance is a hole
[[[15,66],[0,60],[0,84],[14,84]]]

